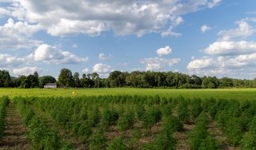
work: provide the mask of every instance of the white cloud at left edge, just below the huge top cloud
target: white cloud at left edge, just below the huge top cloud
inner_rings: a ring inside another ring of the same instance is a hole
[[[40,29],[38,25],[14,22],[9,18],[5,25],[0,26],[0,49],[28,49],[39,45],[42,41],[32,39],[32,35]]]

